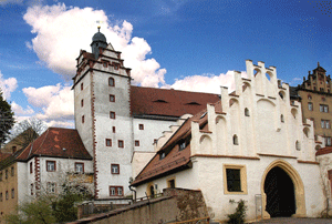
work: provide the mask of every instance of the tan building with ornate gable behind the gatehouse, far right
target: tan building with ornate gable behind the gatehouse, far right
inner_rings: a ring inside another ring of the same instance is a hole
[[[331,78],[326,71],[318,67],[309,71],[308,79],[303,78],[303,83],[297,88],[298,94],[302,101],[303,119],[313,121],[314,134],[324,138],[326,145],[332,145],[331,130]]]

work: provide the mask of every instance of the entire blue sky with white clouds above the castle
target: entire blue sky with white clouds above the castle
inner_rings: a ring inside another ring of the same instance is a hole
[[[101,26],[134,85],[220,93],[246,60],[292,86],[332,72],[332,3],[302,0],[0,0],[0,89],[17,121],[74,128],[72,78]]]

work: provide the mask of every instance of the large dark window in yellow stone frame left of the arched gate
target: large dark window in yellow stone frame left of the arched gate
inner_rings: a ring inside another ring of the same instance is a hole
[[[225,194],[247,194],[247,174],[245,165],[224,165]]]

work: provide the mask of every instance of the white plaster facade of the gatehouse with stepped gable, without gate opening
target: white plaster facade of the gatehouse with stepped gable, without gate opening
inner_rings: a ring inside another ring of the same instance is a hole
[[[236,204],[230,200],[246,201],[247,220],[267,218],[264,180],[278,166],[293,182],[294,215],[321,215],[325,200],[315,146],[323,146],[322,139],[314,141],[312,121],[302,123],[301,104],[290,102],[288,84],[278,85],[274,67],[266,68],[263,62],[255,65],[250,60],[246,65],[248,79],[235,72],[235,93],[221,88],[222,113],[207,105],[208,130],[199,130],[198,121],[191,121],[193,167],[134,184],[137,197],[144,197],[151,185],[162,192],[167,180],[174,179],[176,187],[201,190],[215,221],[225,221],[235,212]],[[241,167],[241,192],[226,190],[227,166]],[[261,196],[261,203],[257,204],[256,195]]]

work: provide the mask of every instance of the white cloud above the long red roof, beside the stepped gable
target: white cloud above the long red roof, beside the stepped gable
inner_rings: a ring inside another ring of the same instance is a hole
[[[246,78],[247,73],[241,72],[241,77]],[[174,84],[165,85],[164,88],[220,94],[220,85],[228,86],[229,92],[235,90],[234,71],[228,71],[226,74],[220,73],[219,75],[204,74],[185,77],[181,80],[177,79]]]

